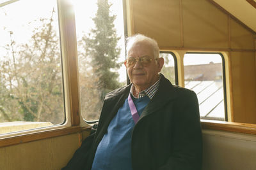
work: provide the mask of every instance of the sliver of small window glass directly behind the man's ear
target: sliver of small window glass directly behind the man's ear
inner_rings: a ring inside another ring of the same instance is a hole
[[[170,80],[173,85],[177,85],[175,78],[175,66],[177,65],[175,61],[175,55],[170,52],[161,52],[159,57],[164,58],[164,66],[161,70],[161,73],[164,74],[164,76],[168,78],[168,80]]]

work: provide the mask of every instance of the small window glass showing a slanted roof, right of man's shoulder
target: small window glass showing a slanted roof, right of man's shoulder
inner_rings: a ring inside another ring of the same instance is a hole
[[[223,60],[218,53],[186,53],[184,56],[185,87],[193,90],[200,117],[225,120]]]

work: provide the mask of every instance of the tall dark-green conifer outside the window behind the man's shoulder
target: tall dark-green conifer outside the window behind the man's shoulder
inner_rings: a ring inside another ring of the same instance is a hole
[[[117,81],[118,73],[115,71],[120,67],[117,59],[121,49],[117,47],[120,38],[113,23],[116,15],[111,15],[109,11],[111,4],[108,0],[98,0],[97,6],[98,10],[93,18],[95,29],[83,39],[86,44],[86,55],[91,58],[93,77],[97,79],[94,88],[97,88],[102,101],[106,93],[120,87]]]

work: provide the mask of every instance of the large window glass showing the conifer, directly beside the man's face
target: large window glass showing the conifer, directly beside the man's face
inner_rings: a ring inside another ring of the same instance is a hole
[[[122,1],[73,1],[76,15],[81,113],[99,119],[102,101],[126,84]]]

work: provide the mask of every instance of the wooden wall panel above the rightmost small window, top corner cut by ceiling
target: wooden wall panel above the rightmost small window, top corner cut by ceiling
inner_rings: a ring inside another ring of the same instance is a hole
[[[182,0],[184,46],[228,48],[228,16],[209,1]]]

